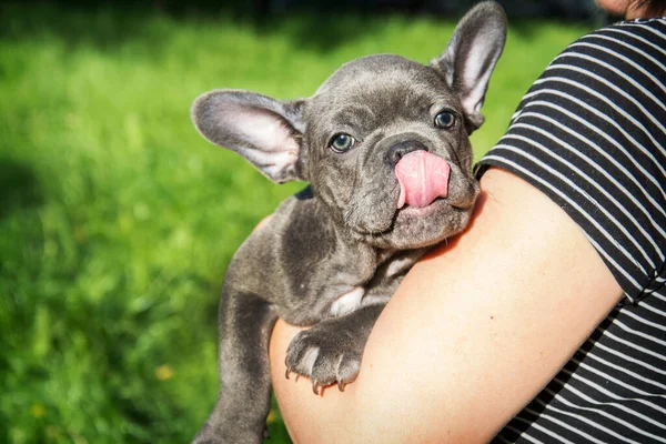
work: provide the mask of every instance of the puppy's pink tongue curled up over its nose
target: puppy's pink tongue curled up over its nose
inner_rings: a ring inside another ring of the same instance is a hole
[[[405,154],[395,165],[400,183],[397,208],[424,208],[437,198],[446,198],[448,192],[448,162],[427,151],[413,151]]]

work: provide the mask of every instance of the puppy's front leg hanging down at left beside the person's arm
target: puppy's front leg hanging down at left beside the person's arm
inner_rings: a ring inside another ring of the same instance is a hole
[[[269,339],[276,319],[264,300],[224,290],[220,301],[220,393],[193,444],[263,441],[271,408]]]

